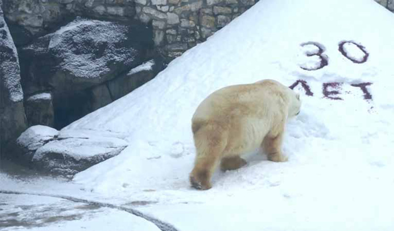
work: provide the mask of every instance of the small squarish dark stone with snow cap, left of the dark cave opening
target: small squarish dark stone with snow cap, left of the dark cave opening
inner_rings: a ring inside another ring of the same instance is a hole
[[[53,104],[50,92],[41,92],[25,100],[25,111],[29,126],[45,125],[53,127]]]

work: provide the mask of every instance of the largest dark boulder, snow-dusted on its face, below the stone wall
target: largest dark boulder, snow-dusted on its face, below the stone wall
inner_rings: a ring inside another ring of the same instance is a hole
[[[26,93],[81,90],[141,64],[153,49],[143,25],[76,19],[21,49]]]

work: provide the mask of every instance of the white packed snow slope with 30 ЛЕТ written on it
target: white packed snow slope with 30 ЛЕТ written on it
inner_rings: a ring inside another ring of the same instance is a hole
[[[74,181],[152,202],[141,209],[184,231],[392,231],[393,24],[373,0],[261,0],[154,80],[66,127],[129,141]],[[197,105],[262,79],[301,93],[283,145],[289,161],[252,153],[247,166],[218,171],[211,190],[191,189]]]

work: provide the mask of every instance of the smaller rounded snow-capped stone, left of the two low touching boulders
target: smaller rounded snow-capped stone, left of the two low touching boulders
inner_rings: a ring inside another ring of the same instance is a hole
[[[35,125],[24,131],[17,139],[18,156],[21,163],[29,164],[35,151],[44,144],[53,141],[59,135],[59,131],[43,125]]]

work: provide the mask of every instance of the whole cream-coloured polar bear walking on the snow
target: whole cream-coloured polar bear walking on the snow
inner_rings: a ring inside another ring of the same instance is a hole
[[[192,118],[196,159],[190,183],[210,189],[220,163],[223,171],[246,164],[241,154],[263,147],[268,159],[285,162],[281,151],[285,123],[298,115],[299,94],[274,80],[221,88],[204,99]]]

